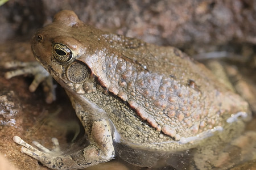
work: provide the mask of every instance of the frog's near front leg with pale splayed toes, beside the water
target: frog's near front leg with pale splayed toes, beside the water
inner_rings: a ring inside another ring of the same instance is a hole
[[[39,160],[48,168],[80,169],[108,162],[114,157],[112,134],[108,122],[105,120],[93,122],[90,135],[91,141],[89,146],[82,150],[74,151],[71,154],[61,153],[59,142],[57,142],[56,138],[52,139],[55,147],[51,151],[34,141],[33,144],[40,149],[38,150],[17,136],[14,137],[14,142],[23,146],[21,148],[22,152]]]

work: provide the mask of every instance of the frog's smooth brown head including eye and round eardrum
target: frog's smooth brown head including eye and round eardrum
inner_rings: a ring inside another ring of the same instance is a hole
[[[84,83],[91,71],[81,58],[92,56],[95,31],[82,23],[73,11],[61,11],[52,24],[32,39],[32,52],[43,67],[66,89]],[[68,84],[68,85],[67,85]],[[69,87],[67,87],[69,86]]]

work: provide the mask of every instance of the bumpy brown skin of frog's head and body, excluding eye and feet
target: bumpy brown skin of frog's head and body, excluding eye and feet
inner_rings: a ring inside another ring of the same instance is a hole
[[[56,43],[71,50],[70,61],[56,61]],[[72,11],[59,12],[52,24],[40,29],[32,50],[68,92],[97,146],[102,142],[93,128],[98,120],[107,122],[114,142],[174,152],[199,145],[214,127],[225,130],[232,114],[249,113],[240,96],[180,50],[100,31]]]

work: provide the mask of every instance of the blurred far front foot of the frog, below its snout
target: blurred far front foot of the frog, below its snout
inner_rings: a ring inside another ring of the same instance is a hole
[[[55,87],[53,85],[52,76],[46,71],[40,63],[36,61],[32,62],[21,62],[21,61],[10,61],[3,64],[5,69],[16,69],[7,71],[5,78],[10,79],[14,76],[31,74],[34,75],[34,80],[30,84],[29,90],[34,92],[38,88],[40,83],[43,83],[43,90],[46,94],[46,102],[52,103],[56,99]]]

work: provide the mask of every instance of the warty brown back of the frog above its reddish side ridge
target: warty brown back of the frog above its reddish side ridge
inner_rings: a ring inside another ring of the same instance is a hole
[[[179,49],[112,33],[102,33],[99,39],[106,42],[104,52],[98,49],[96,54],[102,57],[101,71],[92,73],[155,133],[164,133],[163,141],[222,127],[231,114],[248,109],[243,99]],[[84,60],[90,68],[92,58]]]

